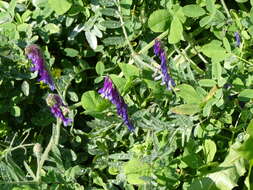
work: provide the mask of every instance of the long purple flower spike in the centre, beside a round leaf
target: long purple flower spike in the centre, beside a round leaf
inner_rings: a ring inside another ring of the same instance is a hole
[[[128,126],[130,131],[133,131],[134,127],[128,118],[127,104],[120,96],[109,77],[105,77],[104,86],[99,89],[98,92],[103,98],[110,100],[116,106],[117,113],[123,119],[124,124]]]

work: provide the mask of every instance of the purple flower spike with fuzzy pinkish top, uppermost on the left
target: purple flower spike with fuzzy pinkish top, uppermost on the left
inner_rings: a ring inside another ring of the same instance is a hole
[[[48,73],[43,55],[40,51],[40,48],[35,45],[29,45],[25,48],[26,55],[28,59],[32,61],[33,67],[31,68],[31,71],[38,71],[38,74],[40,75],[39,81],[42,81],[49,85],[50,89],[53,91],[55,89],[55,85],[53,83],[53,80]]]

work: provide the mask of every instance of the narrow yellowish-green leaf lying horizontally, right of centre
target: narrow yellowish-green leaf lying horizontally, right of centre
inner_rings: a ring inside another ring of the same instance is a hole
[[[172,108],[170,111],[176,114],[194,115],[200,111],[199,104],[182,104]]]

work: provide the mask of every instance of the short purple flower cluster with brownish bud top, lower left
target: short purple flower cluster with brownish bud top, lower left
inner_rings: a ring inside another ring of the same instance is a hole
[[[47,96],[47,105],[51,108],[51,113],[56,117],[60,118],[64,126],[68,126],[72,123],[72,119],[66,118],[63,111],[67,109],[67,106],[63,104],[62,99],[57,94],[49,94]]]

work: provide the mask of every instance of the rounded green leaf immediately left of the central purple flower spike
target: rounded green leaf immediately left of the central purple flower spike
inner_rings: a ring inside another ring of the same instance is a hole
[[[87,91],[83,93],[81,104],[88,112],[101,112],[110,105],[109,102],[102,98],[96,91]]]

